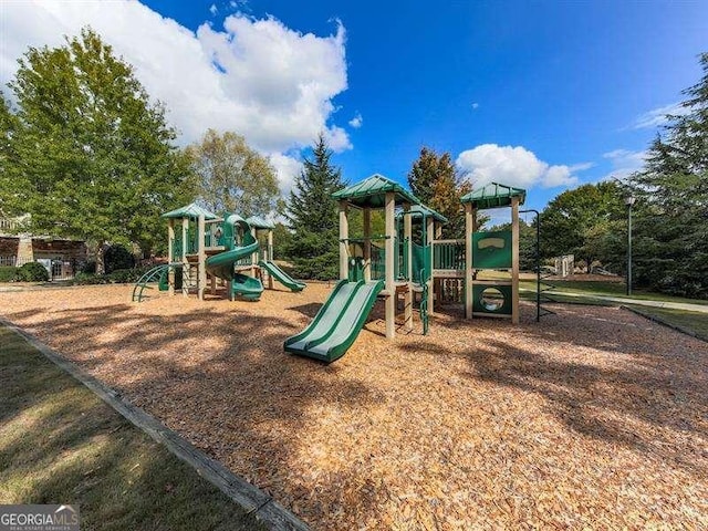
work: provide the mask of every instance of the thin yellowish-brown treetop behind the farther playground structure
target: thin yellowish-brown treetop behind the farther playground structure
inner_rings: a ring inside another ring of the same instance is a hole
[[[209,129],[189,146],[201,202],[215,212],[237,212],[247,218],[278,208],[278,177],[268,158],[251,149],[236,133]]]

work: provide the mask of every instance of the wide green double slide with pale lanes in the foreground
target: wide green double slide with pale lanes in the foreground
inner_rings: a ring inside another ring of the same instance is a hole
[[[285,340],[285,351],[326,363],[342,357],[360,331],[384,289],[384,281],[341,280],[310,325]]]

